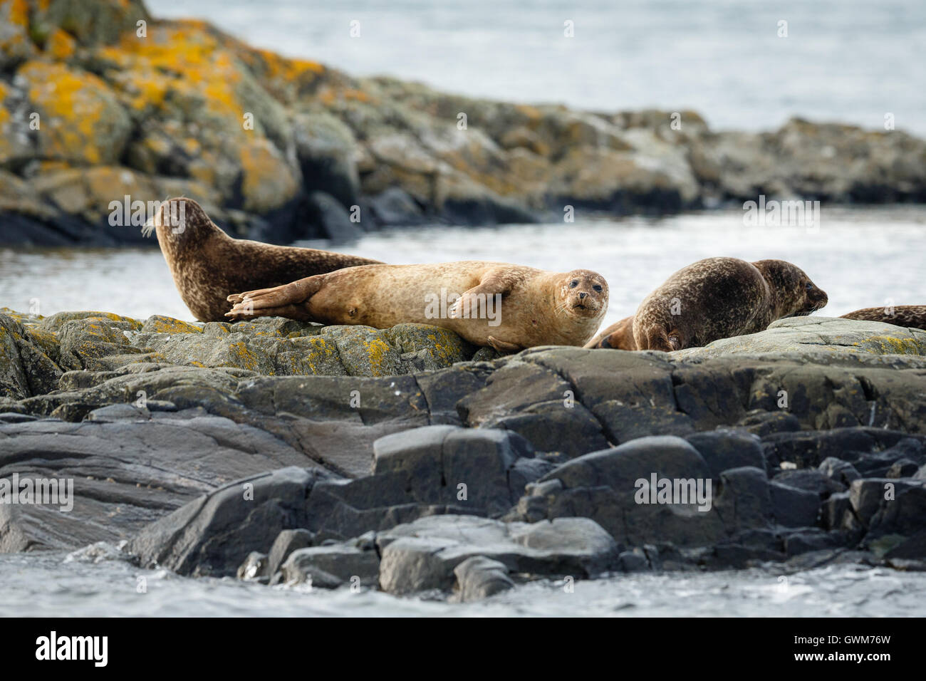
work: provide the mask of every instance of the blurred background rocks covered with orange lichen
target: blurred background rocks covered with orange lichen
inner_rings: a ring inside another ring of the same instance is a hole
[[[278,243],[562,220],[567,206],[926,200],[926,144],[899,131],[795,119],[713,132],[692,111],[448,95],[152,18],[140,0],[5,0],[0,27],[5,243],[139,243],[146,208],[133,221],[131,202],[175,195]]]

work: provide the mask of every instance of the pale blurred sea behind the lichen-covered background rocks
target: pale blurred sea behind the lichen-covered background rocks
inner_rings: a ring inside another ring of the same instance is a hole
[[[156,17],[208,19],[289,57],[452,93],[594,110],[691,108],[716,129],[774,129],[794,115],[882,129],[892,113],[898,130],[926,133],[922,0],[146,5]]]

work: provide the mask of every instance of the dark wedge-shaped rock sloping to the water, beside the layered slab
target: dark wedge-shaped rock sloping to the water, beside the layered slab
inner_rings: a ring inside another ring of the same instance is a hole
[[[219,487],[144,527],[128,549],[143,565],[179,574],[235,574],[251,551],[267,553],[282,530],[306,525],[305,499],[319,477],[290,467]]]

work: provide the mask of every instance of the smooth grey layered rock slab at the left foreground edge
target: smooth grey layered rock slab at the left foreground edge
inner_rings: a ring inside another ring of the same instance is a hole
[[[254,427],[191,413],[0,424],[0,443],[0,479],[73,481],[67,512],[0,504],[0,552],[115,543],[236,478],[310,463]]]

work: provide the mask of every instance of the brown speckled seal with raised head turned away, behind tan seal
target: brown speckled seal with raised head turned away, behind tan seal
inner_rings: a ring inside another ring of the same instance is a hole
[[[157,209],[144,235],[157,233],[164,259],[186,307],[200,322],[227,322],[228,296],[378,260],[342,253],[233,239],[191,198]]]

